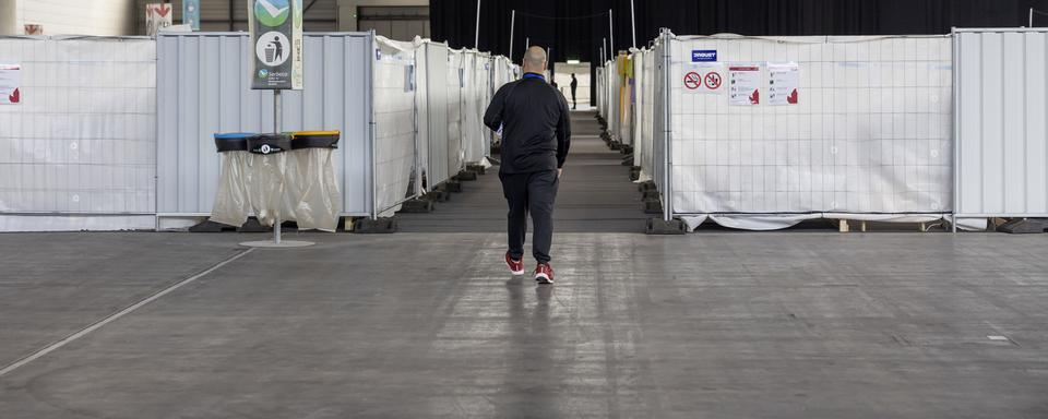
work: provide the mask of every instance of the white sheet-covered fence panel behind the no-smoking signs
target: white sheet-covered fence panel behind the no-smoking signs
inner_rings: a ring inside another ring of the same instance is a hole
[[[675,214],[950,212],[950,37],[693,37],[670,46]],[[724,92],[684,93],[695,49],[760,64],[765,98],[766,63],[798,63],[798,104],[730,106]]]

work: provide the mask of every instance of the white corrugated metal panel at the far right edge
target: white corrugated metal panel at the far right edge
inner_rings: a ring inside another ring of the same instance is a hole
[[[1048,217],[1048,29],[956,29],[956,208]]]

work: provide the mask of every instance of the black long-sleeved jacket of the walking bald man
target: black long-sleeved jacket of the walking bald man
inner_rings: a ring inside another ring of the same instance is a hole
[[[568,100],[541,76],[525,73],[495,94],[484,124],[502,127],[503,173],[559,169],[571,145]]]

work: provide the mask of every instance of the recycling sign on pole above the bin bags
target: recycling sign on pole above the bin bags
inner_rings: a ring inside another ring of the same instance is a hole
[[[248,0],[251,88],[302,88],[302,0]]]

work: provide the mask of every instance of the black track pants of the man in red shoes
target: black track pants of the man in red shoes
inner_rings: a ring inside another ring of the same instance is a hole
[[[510,236],[510,256],[524,256],[524,237],[527,235],[527,214],[532,214],[535,237],[532,255],[538,263],[549,262],[549,247],[553,241],[553,201],[557,199],[556,170],[526,173],[499,173],[502,194],[510,206],[507,232]]]

